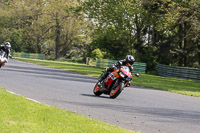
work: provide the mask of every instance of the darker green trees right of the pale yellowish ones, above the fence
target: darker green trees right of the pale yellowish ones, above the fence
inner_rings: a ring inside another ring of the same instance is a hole
[[[199,5],[198,0],[88,0],[82,9],[98,29],[93,48],[110,58],[123,58],[119,51],[133,54],[154,69],[156,62],[200,63]]]

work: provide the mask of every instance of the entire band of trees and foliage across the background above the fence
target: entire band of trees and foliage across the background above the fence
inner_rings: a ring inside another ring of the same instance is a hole
[[[50,58],[127,54],[146,62],[200,65],[199,0],[7,0],[0,2],[0,42]]]

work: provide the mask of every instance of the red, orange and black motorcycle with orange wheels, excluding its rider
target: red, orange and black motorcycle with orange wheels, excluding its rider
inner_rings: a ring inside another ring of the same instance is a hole
[[[104,71],[102,72],[104,73]],[[135,76],[139,77],[139,74],[137,73]],[[99,82],[96,83],[93,89],[93,93],[96,96],[106,94],[109,95],[110,98],[114,99],[122,92],[125,87],[130,86],[130,81],[132,78],[133,77],[130,69],[127,66],[123,66],[120,69],[115,69],[104,80],[102,80],[100,84]]]

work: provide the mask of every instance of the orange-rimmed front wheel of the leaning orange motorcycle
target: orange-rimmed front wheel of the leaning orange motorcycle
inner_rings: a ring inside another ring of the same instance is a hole
[[[117,87],[114,87],[110,91],[110,98],[116,98],[123,90],[124,83],[118,82]]]

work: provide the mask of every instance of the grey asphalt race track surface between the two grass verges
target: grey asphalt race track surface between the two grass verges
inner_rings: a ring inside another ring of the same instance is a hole
[[[93,95],[96,78],[10,60],[0,86],[16,94],[144,133],[199,133],[200,98],[140,87]]]

